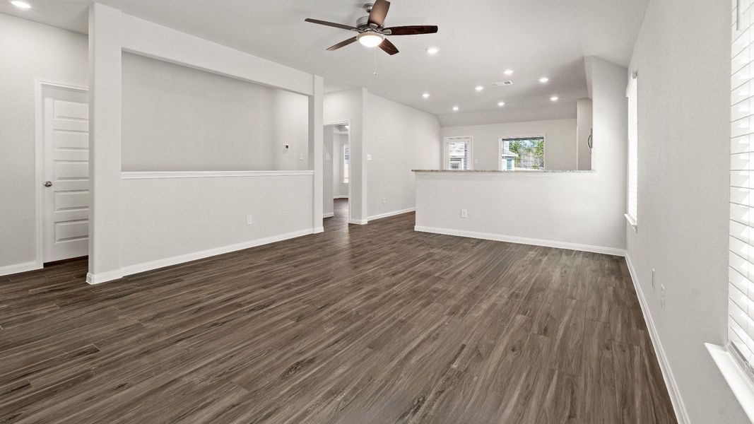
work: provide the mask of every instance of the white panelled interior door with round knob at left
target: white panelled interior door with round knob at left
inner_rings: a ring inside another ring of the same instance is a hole
[[[88,94],[44,88],[44,262],[89,252]]]

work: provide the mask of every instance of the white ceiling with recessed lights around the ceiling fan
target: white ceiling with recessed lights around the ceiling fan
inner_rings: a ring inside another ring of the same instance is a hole
[[[0,13],[87,32],[87,0],[29,0]],[[392,0],[387,26],[437,25],[437,34],[391,37],[400,54],[354,44],[353,35],[305,23],[306,17],[353,25],[364,0],[102,0],[122,11],[325,78],[326,91],[369,92],[438,115],[443,125],[575,117],[587,97],[584,57],[626,66],[649,0]],[[430,56],[425,48],[437,46]],[[513,75],[503,75],[504,69]],[[537,80],[550,78],[547,84]],[[490,87],[510,79],[513,85]],[[485,85],[482,92],[474,87]],[[431,97],[423,99],[428,92]],[[551,95],[559,97],[550,102]],[[498,101],[506,104],[498,108]],[[452,106],[459,106],[452,112]]]

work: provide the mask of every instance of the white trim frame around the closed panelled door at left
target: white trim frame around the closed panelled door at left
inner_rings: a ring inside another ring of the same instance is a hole
[[[89,94],[89,88],[42,78],[34,80],[34,195],[35,195],[35,269],[44,266],[44,88]],[[87,102],[88,103],[88,102]],[[91,205],[89,205],[91,209]]]

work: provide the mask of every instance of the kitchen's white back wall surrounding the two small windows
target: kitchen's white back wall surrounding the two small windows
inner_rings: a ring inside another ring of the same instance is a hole
[[[443,128],[443,137],[474,137],[472,150],[474,169],[498,170],[500,137],[544,135],[544,167],[550,170],[576,169],[576,120],[507,122],[504,124],[470,125]],[[442,146],[440,146],[442,151]],[[440,155],[442,160],[442,155]]]

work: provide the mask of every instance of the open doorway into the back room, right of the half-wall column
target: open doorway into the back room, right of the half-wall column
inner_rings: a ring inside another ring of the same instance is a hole
[[[325,124],[323,137],[323,217],[326,226],[346,226],[351,220],[351,125]],[[328,225],[329,224],[329,225]]]

